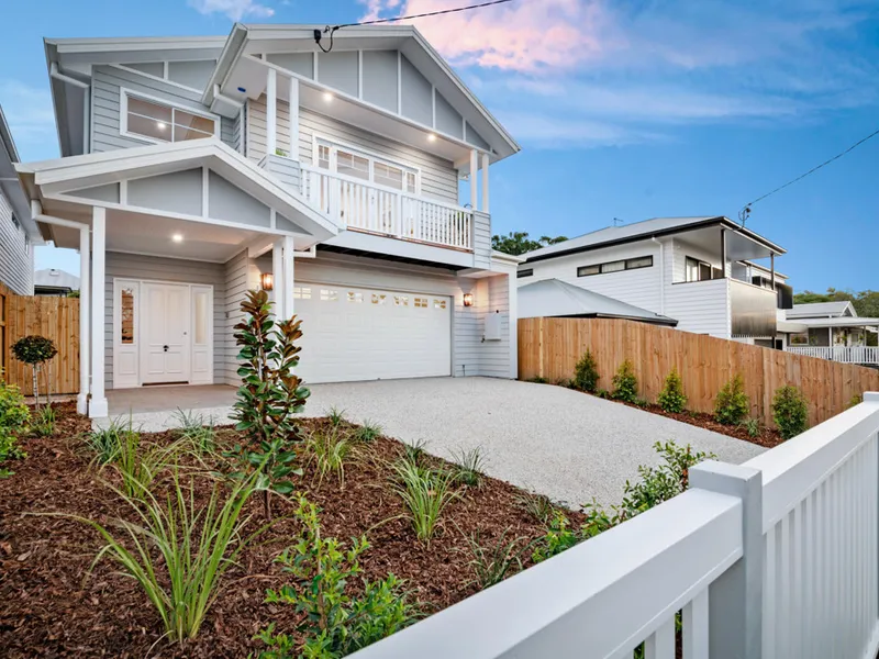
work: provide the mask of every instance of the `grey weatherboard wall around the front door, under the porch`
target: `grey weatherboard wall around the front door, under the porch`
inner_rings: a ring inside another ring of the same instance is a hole
[[[113,279],[162,281],[168,283],[208,284],[213,287],[213,331],[215,337],[224,335],[226,327],[225,266],[177,258],[163,258],[138,254],[107,253],[105,316],[104,316],[104,378],[107,388],[113,388]],[[224,381],[225,354],[222,343],[214,340],[211,350],[213,382]]]

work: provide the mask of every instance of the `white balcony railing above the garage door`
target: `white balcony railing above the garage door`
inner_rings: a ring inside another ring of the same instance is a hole
[[[307,165],[302,166],[302,193],[348,228],[472,249],[472,212],[464,206],[372,186]]]

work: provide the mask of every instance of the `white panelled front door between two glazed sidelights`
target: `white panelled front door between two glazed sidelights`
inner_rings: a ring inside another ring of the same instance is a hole
[[[142,294],[142,382],[189,382],[190,288],[144,282]]]

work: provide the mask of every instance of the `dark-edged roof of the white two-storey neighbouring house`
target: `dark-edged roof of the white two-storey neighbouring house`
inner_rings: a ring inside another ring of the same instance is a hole
[[[577,236],[576,238],[570,238],[564,243],[556,243],[555,245],[548,245],[547,247],[534,249],[533,252],[528,252],[523,256],[525,257],[526,263],[538,261],[557,256],[598,249],[599,247],[609,247],[611,245],[643,241],[649,237],[674,235],[682,231],[690,231],[714,225],[723,225],[726,228],[736,231],[752,238],[753,241],[760,243],[776,254],[785,254],[785,249],[775,243],[769,242],[753,231],[742,227],[739,224],[733,222],[728,217],[723,215],[700,215],[696,217],[653,217],[652,220],[633,222],[632,224],[624,224],[622,226],[608,226],[605,228],[599,228],[598,231]]]

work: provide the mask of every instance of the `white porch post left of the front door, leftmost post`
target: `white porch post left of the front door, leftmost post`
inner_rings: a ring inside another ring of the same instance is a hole
[[[109,413],[104,393],[103,325],[107,298],[104,294],[104,263],[107,245],[107,210],[94,206],[91,216],[92,263],[91,263],[91,402],[89,416],[100,418]]]

